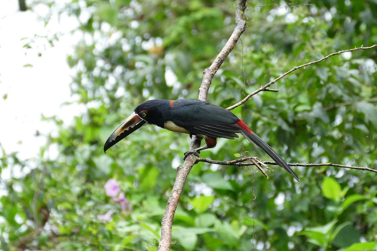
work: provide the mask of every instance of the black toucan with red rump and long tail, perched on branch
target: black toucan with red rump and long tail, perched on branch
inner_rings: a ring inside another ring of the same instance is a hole
[[[248,141],[262,148],[297,181],[300,180],[283,158],[231,111],[198,99],[152,99],[141,103],[107,138],[103,147],[104,152],[145,124],[204,138],[206,146],[186,152],[185,157],[214,148],[217,138],[234,139],[238,138],[236,133],[240,133]]]

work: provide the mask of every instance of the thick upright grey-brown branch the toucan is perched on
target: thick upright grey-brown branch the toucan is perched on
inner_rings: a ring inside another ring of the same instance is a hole
[[[210,88],[213,76],[215,76],[217,70],[224,62],[225,58],[227,58],[227,56],[233,49],[234,45],[237,43],[239,37],[246,29],[246,21],[244,16],[246,2],[247,0],[238,0],[238,4],[236,7],[236,27],[233,33],[231,34],[230,38],[228,39],[227,43],[225,43],[225,46],[222,48],[219,55],[217,55],[217,57],[211,64],[211,66],[203,71],[203,81],[199,88],[200,100],[207,100],[208,89]],[[199,148],[200,143],[201,138],[193,136],[190,144],[190,150]],[[169,200],[167,202],[164,216],[162,217],[161,240],[158,245],[159,251],[170,250],[170,244],[172,242],[172,225],[174,213],[178,205],[179,197],[181,196],[181,193],[183,191],[187,176],[189,175],[189,172],[194,166],[194,164],[198,163],[197,159],[197,156],[190,154],[187,156],[185,162],[177,168],[177,177],[173,186],[172,193],[170,194]]]

